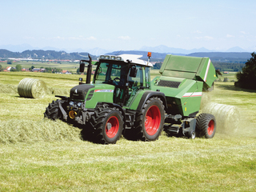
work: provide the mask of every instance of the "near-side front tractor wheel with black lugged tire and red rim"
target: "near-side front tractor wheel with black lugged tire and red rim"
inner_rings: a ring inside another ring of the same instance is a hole
[[[94,142],[114,144],[122,135],[124,118],[117,107],[107,104],[99,106],[92,119],[94,126]]]

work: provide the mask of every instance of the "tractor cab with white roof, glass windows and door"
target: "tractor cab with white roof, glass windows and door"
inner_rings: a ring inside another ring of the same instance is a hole
[[[101,55],[99,61],[96,62],[93,85],[96,87],[98,84],[113,86],[113,102],[119,106],[129,106],[139,90],[150,89],[150,67],[152,65],[150,62],[138,59],[140,57],[142,55]]]

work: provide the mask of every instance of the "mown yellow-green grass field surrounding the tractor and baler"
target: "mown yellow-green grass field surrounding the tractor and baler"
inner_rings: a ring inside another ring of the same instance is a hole
[[[54,94],[30,99],[2,91],[27,77],[70,90],[81,76],[0,73],[0,191],[256,190],[255,91],[215,83],[211,101],[241,112],[236,132],[217,130],[213,139],[194,140],[162,133],[156,142],[121,138],[103,146],[82,141],[79,130],[64,122],[42,120]]]

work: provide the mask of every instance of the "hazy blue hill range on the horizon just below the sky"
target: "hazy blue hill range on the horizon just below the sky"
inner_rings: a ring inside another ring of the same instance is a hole
[[[147,60],[147,51],[142,50],[122,50],[114,51],[107,54],[118,55],[118,54],[139,54],[142,55],[142,59]],[[0,50],[0,58],[34,58],[34,59],[83,59],[86,58],[88,53],[86,52],[74,52],[66,53],[65,51],[55,50],[25,50],[23,52],[12,52],[9,50]],[[185,54],[174,54],[174,55],[185,55]],[[247,59],[250,59],[251,55],[249,52],[199,52],[193,54],[186,54],[191,57],[209,57],[213,62],[241,62],[244,63]],[[91,54],[93,59],[98,57]],[[152,52],[151,62],[162,62],[166,58],[166,54]]]

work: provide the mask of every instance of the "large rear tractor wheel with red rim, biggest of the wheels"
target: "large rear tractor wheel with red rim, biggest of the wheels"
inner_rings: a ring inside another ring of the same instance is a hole
[[[163,130],[165,110],[158,97],[148,99],[142,111],[136,114],[134,139],[144,142],[155,141]]]

